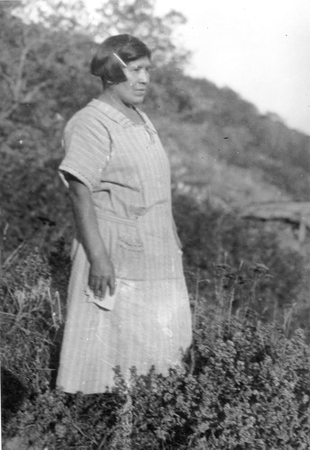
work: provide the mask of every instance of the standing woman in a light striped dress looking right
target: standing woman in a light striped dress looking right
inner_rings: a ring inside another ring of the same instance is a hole
[[[133,365],[138,374],[151,365],[167,374],[191,343],[169,161],[137,108],[149,71],[150,49],[141,40],[105,40],[91,63],[104,92],[64,132],[59,171],[78,230],[57,381],[65,392],[105,392],[116,365],[125,379]]]

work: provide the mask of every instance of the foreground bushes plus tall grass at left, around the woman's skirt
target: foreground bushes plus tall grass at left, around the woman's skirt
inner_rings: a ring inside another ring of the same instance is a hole
[[[61,261],[68,265],[61,248],[49,260],[29,247],[5,273],[7,448],[13,442],[20,448],[58,450],[308,448],[310,348],[303,332],[286,338],[249,314],[206,314],[200,297],[195,299],[194,344],[182,367],[171,368],[166,377],[156,367],[146,376],[132,368],[129,385],[121,368],[115,368],[115,388],[103,394],[55,391],[53,358],[62,316],[50,272]]]

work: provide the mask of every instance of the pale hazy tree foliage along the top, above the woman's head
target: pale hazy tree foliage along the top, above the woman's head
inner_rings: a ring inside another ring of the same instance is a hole
[[[152,0],[105,0],[102,7],[91,12],[82,0],[22,0],[14,14],[27,17],[26,23],[41,23],[54,31],[87,33],[94,40],[104,40],[118,33],[134,34],[154,50],[157,64],[171,61],[183,66],[189,52],[178,49],[174,43],[174,31],[186,23],[177,11],[160,17],[155,14]]]

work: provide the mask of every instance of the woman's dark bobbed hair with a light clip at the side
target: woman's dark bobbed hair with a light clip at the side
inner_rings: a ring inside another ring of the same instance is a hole
[[[91,74],[100,76],[104,88],[106,85],[117,85],[127,79],[123,73],[122,63],[114,53],[125,64],[143,57],[150,58],[151,55],[144,42],[130,34],[118,34],[104,40],[90,64]]]

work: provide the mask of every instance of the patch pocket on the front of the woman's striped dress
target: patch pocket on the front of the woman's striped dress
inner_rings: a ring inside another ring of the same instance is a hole
[[[114,254],[114,268],[119,278],[145,279],[145,252],[137,227],[126,227],[120,233]]]

